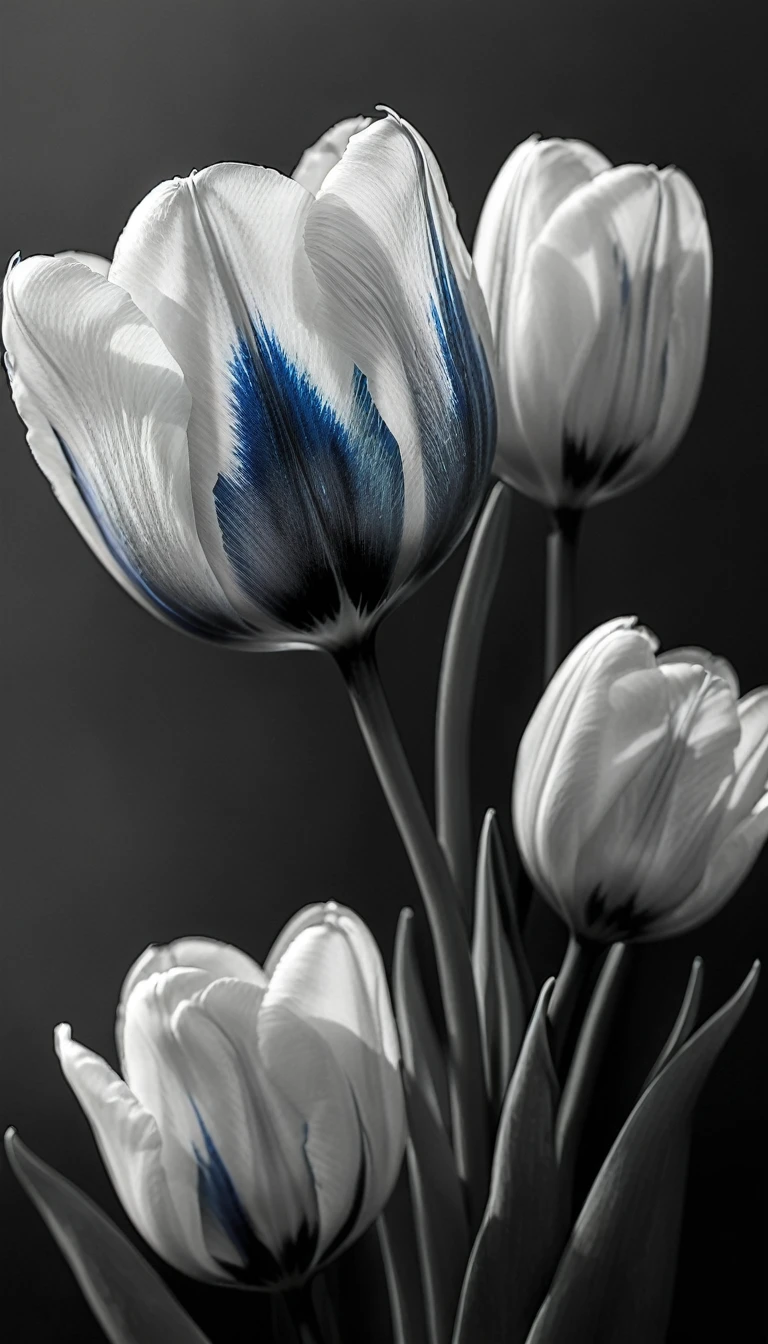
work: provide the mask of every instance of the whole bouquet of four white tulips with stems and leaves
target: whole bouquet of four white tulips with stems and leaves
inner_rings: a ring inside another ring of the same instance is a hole
[[[133,1227],[222,1293],[269,1293],[274,1344],[367,1337],[340,1327],[354,1243],[393,1344],[664,1340],[691,1116],[757,968],[702,1023],[694,962],[584,1199],[574,1171],[631,945],[712,918],[768,833],[768,689],[741,696],[725,659],[660,653],[631,617],[573,648],[573,594],[584,511],[686,430],[710,271],[683,172],[564,140],[511,153],[469,255],[394,113],[334,126],[292,177],[230,163],[161,183],[112,262],[9,266],[11,392],[70,519],[176,629],[335,660],[426,915],[402,911],[389,982],[336,903],[292,914],[264,965],[194,935],[148,948],[117,1005],[118,1071],[56,1028]],[[551,531],[507,853],[492,810],[473,833],[468,758],[515,491]],[[473,524],[433,824],[375,636]],[[569,942],[537,984],[542,899]],[[204,1344],[135,1243],[13,1130],[7,1146],[113,1344]]]

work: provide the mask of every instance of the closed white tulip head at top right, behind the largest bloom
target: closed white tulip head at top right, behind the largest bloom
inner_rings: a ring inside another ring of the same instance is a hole
[[[686,175],[526,140],[473,254],[496,347],[498,474],[560,509],[655,472],[693,414],[709,332],[709,230]]]

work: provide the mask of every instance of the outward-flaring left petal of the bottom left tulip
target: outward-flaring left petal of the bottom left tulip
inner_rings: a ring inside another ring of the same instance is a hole
[[[163,1140],[152,1116],[116,1073],[58,1027],[56,1054],[95,1134],[104,1163],[130,1222],[152,1249],[195,1278],[221,1279],[207,1254],[196,1214],[196,1180],[175,1183],[163,1165]]]

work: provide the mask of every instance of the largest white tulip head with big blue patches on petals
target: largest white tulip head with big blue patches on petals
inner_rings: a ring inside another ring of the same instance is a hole
[[[490,327],[437,163],[394,116],[295,180],[217,164],[93,259],[12,265],[30,448],[145,607],[253,648],[359,640],[453,550],[491,466]]]

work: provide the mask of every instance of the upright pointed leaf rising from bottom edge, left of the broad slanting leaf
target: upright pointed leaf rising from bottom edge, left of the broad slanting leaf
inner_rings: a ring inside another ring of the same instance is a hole
[[[547,1032],[551,986],[549,980],[539,995],[504,1098],[453,1344],[525,1344],[568,1239],[554,1141],[560,1086]]]

